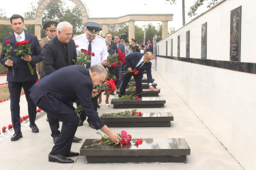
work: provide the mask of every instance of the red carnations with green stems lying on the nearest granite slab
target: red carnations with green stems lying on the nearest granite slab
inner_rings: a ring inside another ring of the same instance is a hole
[[[106,135],[102,135],[101,133],[97,132],[98,135],[101,135],[100,139],[96,139],[94,140],[94,144],[90,145],[90,146],[85,146],[85,148],[91,147],[91,146],[110,146],[110,145],[115,145],[116,143],[114,143],[113,141],[111,141],[111,139],[109,139],[109,137],[107,137]],[[117,145],[119,145],[120,147],[123,147],[125,145],[127,145],[128,143],[130,143],[130,141],[134,142],[135,145],[141,145],[142,144],[142,140],[141,139],[132,139],[132,136],[129,135],[126,131],[122,131],[121,134],[117,133],[117,135],[119,135],[119,137],[122,138],[122,141],[119,141],[117,143]]]

